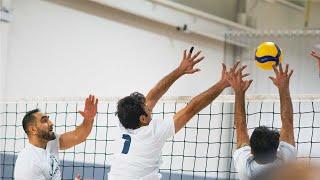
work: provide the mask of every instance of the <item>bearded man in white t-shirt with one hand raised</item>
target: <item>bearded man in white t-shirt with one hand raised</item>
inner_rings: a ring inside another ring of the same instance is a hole
[[[98,99],[90,95],[85,101],[84,111],[79,111],[84,118],[82,124],[75,130],[61,135],[53,132],[53,123],[49,116],[39,109],[27,112],[22,125],[29,142],[18,155],[14,178],[61,180],[58,151],[71,148],[86,140],[92,129],[97,105]]]

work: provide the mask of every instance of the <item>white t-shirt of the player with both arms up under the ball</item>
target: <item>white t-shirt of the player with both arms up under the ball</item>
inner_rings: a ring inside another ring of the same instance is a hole
[[[277,165],[279,163],[295,160],[297,156],[297,150],[291,144],[284,141],[279,143],[277,159],[273,163],[258,164],[251,154],[250,146],[244,146],[237,149],[233,153],[234,167],[236,168],[239,178],[241,180],[249,179],[267,168]]]

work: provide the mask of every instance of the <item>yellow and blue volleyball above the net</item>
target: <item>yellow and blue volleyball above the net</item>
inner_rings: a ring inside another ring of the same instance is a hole
[[[273,42],[261,43],[255,52],[256,65],[263,70],[271,70],[274,64],[282,62],[282,52]]]

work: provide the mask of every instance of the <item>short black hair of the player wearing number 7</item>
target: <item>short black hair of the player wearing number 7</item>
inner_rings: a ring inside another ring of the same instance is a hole
[[[124,128],[137,129],[140,127],[140,116],[147,115],[144,110],[145,102],[144,95],[138,92],[118,101],[116,115]]]

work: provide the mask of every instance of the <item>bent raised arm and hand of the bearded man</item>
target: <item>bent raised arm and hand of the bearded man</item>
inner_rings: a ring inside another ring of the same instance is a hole
[[[66,132],[60,136],[60,149],[68,149],[77,144],[82,143],[89,136],[94,117],[97,114],[98,99],[90,95],[85,102],[84,111],[79,111],[81,116],[84,118],[80,126],[75,130]]]

